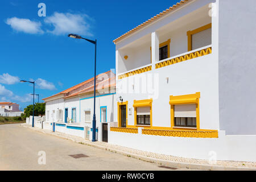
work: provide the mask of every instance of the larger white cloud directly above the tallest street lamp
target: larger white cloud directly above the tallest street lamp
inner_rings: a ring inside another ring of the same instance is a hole
[[[90,22],[93,19],[86,14],[57,13],[48,16],[44,22],[54,27],[52,31],[54,35],[80,34],[93,36],[90,32]]]

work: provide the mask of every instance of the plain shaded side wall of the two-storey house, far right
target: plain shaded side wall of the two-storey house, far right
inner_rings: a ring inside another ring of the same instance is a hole
[[[220,127],[227,134],[256,134],[255,0],[219,1]]]

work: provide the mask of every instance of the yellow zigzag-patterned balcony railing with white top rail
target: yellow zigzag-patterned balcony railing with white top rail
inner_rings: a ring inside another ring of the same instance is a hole
[[[169,58],[167,58],[165,60],[162,60],[162,61],[160,61],[156,64],[146,65],[144,67],[136,68],[136,69],[133,69],[133,70],[128,71],[126,73],[122,73],[121,75],[118,75],[118,79],[122,79],[122,78],[126,78],[126,77],[129,77],[129,76],[138,75],[140,73],[151,71],[152,66],[154,66],[155,69],[159,69],[159,68],[162,68],[162,67],[166,67],[168,65],[180,63],[180,62],[183,62],[183,61],[188,61],[188,60],[194,59],[196,57],[209,55],[211,53],[212,53],[212,46],[210,45],[210,46],[207,46],[207,47],[203,47],[203,48],[200,48],[200,49],[196,49],[196,50],[193,50],[193,51],[183,53],[181,55],[177,55],[177,56],[174,56],[174,57],[169,57]]]

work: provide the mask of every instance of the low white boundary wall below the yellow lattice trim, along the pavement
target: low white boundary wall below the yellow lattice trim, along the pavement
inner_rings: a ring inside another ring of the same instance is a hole
[[[225,135],[219,138],[184,138],[128,134],[109,131],[109,143],[183,158],[256,162],[256,136]]]

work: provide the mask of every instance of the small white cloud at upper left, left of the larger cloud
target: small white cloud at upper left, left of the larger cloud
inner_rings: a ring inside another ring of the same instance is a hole
[[[8,18],[6,24],[9,24],[13,30],[18,32],[25,32],[28,34],[43,34],[41,23],[31,21],[30,19],[23,18]]]

